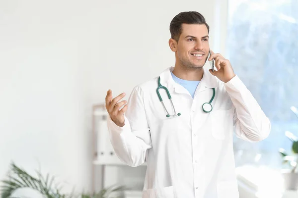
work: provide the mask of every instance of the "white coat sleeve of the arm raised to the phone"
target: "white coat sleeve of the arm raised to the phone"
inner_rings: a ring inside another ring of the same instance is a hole
[[[249,142],[267,138],[271,130],[270,120],[239,77],[236,75],[225,83],[225,89],[235,107],[236,136]]]

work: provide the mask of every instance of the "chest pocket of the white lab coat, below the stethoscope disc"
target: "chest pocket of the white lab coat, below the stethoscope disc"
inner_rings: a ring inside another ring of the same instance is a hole
[[[233,130],[233,109],[211,111],[212,136],[224,140],[226,135]]]

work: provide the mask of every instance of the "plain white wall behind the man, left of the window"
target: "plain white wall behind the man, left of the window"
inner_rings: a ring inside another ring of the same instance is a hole
[[[1,0],[0,179],[13,160],[90,190],[91,105],[174,65],[169,23],[181,11],[201,12],[223,50],[216,1]]]

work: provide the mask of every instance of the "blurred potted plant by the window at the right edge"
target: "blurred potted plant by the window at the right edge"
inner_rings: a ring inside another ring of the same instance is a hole
[[[298,110],[295,106],[291,106],[291,110],[298,117]],[[284,187],[286,190],[298,190],[298,138],[286,131],[285,135],[292,142],[292,153],[288,154],[284,148],[280,148],[279,152],[283,157],[283,163],[288,164],[290,169],[283,169]]]

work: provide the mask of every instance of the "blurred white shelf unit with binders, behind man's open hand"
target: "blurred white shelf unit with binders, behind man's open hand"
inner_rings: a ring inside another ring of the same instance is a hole
[[[141,189],[143,189],[144,185],[143,177],[145,176],[147,163],[143,163],[138,166],[139,168],[135,169],[126,165],[118,158],[110,142],[107,117],[108,113],[105,110],[104,104],[95,104],[92,106],[94,156],[92,161],[92,192],[97,191],[99,187],[103,189],[110,186],[111,183],[118,183],[116,181],[121,180],[121,183],[124,183],[125,186],[133,187],[130,188],[131,190],[125,192],[125,198],[142,198],[143,191]],[[97,173],[101,174],[100,179],[97,178]],[[107,173],[113,173],[113,175],[106,177]],[[140,176],[142,176],[141,179]],[[100,186],[98,186],[97,182],[100,182]],[[121,195],[123,195],[123,192]]]

